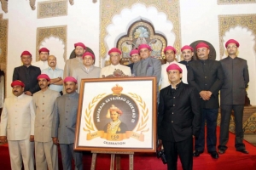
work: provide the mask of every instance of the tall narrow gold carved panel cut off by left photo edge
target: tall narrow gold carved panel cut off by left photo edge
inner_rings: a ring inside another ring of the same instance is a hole
[[[0,70],[5,71],[8,44],[8,20],[0,14]]]

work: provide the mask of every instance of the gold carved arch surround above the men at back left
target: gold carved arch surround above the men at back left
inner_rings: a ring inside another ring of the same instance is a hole
[[[52,26],[52,27],[40,27],[37,31],[37,46],[36,51],[39,50],[40,45],[44,42],[45,38],[56,37],[59,38],[64,44],[63,59],[67,59],[67,26]],[[37,53],[36,60],[39,60]]]

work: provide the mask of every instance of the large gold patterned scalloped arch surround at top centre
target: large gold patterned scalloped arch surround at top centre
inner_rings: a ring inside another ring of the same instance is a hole
[[[180,49],[181,36],[180,36],[180,15],[179,15],[179,0],[176,1],[163,1],[163,0],[104,0],[100,1],[100,14],[101,14],[101,32],[100,32],[100,56],[103,58],[107,53],[104,38],[107,36],[107,26],[111,24],[112,18],[115,14],[120,14],[122,9],[131,8],[134,3],[143,3],[147,8],[155,7],[159,12],[165,13],[167,20],[171,20],[173,24],[172,31],[176,35],[174,48]],[[101,61],[101,59],[100,59]]]

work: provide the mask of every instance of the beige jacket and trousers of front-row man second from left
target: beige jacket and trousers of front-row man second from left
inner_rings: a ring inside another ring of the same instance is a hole
[[[33,94],[35,119],[35,156],[37,169],[58,169],[57,146],[51,138],[53,107],[60,93],[50,90],[38,91]]]

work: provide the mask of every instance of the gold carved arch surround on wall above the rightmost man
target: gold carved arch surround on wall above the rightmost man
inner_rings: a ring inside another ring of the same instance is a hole
[[[219,34],[219,48],[220,56],[224,56],[224,34],[231,28],[236,26],[246,27],[256,35],[256,14],[230,14],[230,15],[218,15],[218,34]],[[255,39],[254,39],[255,40]],[[256,52],[256,42],[254,45],[254,50]]]

